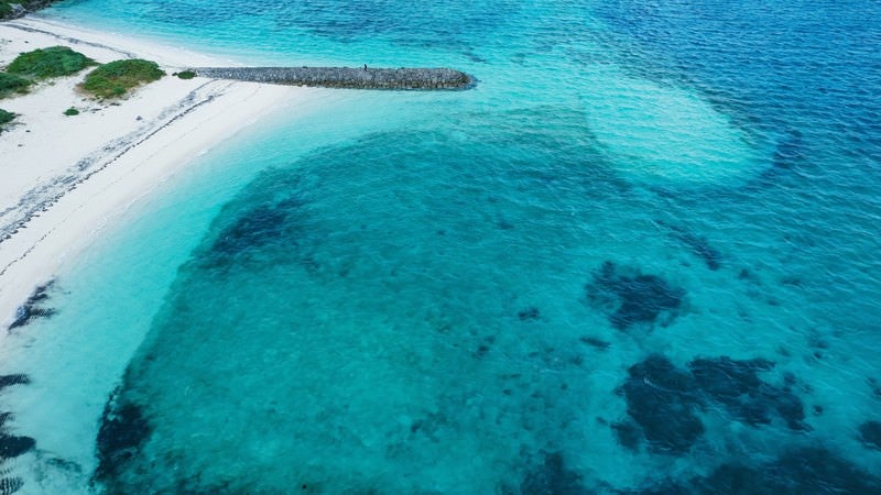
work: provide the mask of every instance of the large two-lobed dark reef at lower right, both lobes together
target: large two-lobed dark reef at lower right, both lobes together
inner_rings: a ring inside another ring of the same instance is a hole
[[[619,388],[627,400],[628,419],[612,425],[621,446],[637,450],[644,438],[651,452],[682,455],[705,432],[699,414],[721,406],[733,420],[751,427],[769,425],[776,416],[795,431],[805,425],[802,400],[790,384],[776,386],[759,377],[774,363],[738,361],[727,356],[698,359],[687,370],[652,354],[628,370]]]

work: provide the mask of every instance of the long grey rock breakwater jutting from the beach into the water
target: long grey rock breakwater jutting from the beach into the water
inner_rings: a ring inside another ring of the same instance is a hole
[[[467,89],[474,79],[449,68],[205,67],[198,76],[275,85],[350,89]]]

